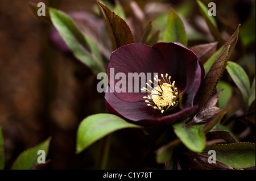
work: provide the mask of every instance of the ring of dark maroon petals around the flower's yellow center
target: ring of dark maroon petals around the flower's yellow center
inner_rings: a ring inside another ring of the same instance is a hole
[[[106,92],[105,103],[110,113],[135,121],[137,124],[160,126],[187,119],[196,111],[198,106],[193,105],[193,99],[204,78],[204,67],[195,53],[179,43],[158,43],[152,48],[134,43],[112,53],[106,73],[112,89],[116,83],[126,81],[126,92]],[[119,82],[119,79],[114,78],[117,73],[125,75],[125,80]],[[146,73],[151,73],[151,76],[154,76],[154,73],[158,76],[166,73],[171,75],[171,81],[176,82],[175,86],[182,95],[182,109],[177,112],[161,113],[148,107],[143,99],[147,93],[128,92],[129,86],[134,86],[135,83],[128,84],[129,73],[144,73],[143,79],[139,79],[137,83],[139,89],[142,88],[141,82],[148,82]]]

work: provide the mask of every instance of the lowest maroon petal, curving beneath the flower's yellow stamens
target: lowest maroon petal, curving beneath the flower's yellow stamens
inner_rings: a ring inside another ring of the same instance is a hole
[[[177,120],[184,120],[191,116],[197,106],[185,108],[170,115],[164,115],[159,110],[148,107],[145,102],[125,102],[115,96],[114,93],[106,92],[105,103],[110,113],[124,117],[137,124],[147,126],[163,126],[174,124]]]

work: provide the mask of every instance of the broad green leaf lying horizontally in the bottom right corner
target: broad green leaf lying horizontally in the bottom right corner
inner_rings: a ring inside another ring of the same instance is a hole
[[[208,155],[209,150],[216,151],[216,159],[233,168],[246,168],[255,165],[255,144],[237,142],[207,146],[202,154]]]

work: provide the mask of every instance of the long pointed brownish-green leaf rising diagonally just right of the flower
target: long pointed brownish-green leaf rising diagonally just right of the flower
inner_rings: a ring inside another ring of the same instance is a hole
[[[237,30],[233,33],[230,39],[226,42],[224,48],[221,50],[221,53],[218,54],[203,82],[201,83],[199,91],[197,91],[195,96],[195,102],[199,104],[199,108],[195,112],[195,115],[203,109],[205,104],[207,104],[208,100],[214,93],[215,87],[218,81],[220,81],[220,78],[226,68],[229,57],[236,47],[239,27],[240,25],[237,27]]]

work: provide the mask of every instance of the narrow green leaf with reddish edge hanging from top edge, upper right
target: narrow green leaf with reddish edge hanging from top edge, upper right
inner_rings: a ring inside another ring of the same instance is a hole
[[[216,38],[218,43],[221,45],[225,44],[225,41],[222,39],[220,32],[217,28],[217,23],[213,16],[208,15],[208,8],[202,3],[201,1],[197,0],[197,5],[199,7],[201,15],[204,17],[205,21],[208,24],[208,27],[210,28],[210,32],[212,32],[213,36]]]

